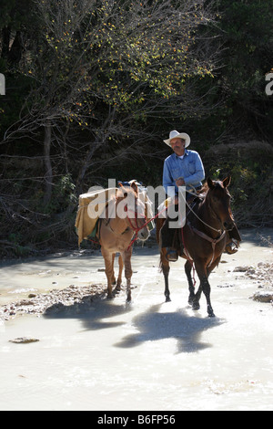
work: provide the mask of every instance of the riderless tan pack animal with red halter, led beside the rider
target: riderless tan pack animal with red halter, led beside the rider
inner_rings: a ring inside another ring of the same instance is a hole
[[[120,185],[116,197],[112,198],[106,207],[106,218],[99,220],[100,225],[96,238],[101,246],[101,253],[105,259],[107,277],[107,298],[113,298],[112,285],[116,284],[115,291],[120,291],[122,271],[125,267],[126,300],[131,300],[131,267],[132,240],[134,234],[137,239],[145,241],[149,236],[145,204],[138,198],[136,183],[131,186]],[[118,278],[116,283],[114,261],[118,257]]]

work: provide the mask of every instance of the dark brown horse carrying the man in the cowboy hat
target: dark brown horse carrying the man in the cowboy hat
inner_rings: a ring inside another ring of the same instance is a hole
[[[193,309],[199,309],[199,299],[202,291],[207,299],[207,313],[214,317],[210,302],[210,285],[208,277],[214,267],[217,267],[227,242],[227,231],[234,226],[233,216],[230,209],[230,194],[227,187],[230,183],[228,176],[223,182],[207,180],[203,198],[187,214],[186,225],[178,230],[180,245],[177,246],[178,255],[187,259],[185,272],[189,288],[188,303]],[[157,219],[157,242],[160,243],[160,229],[165,219]],[[183,248],[184,247],[184,248]],[[166,301],[170,300],[168,288],[169,262],[167,260],[167,249],[160,248],[160,264],[165,277]],[[191,270],[195,265],[200,285],[195,293],[191,277]]]

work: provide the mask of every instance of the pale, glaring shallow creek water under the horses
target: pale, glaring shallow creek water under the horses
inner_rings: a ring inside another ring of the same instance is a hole
[[[171,266],[165,303],[157,249],[134,252],[131,305],[123,291],[86,312],[72,307],[0,325],[0,410],[272,411],[272,306],[249,299],[257,285],[233,272],[261,255],[270,260],[270,248],[250,236],[240,253],[224,256],[211,275],[215,319],[207,318],[205,298],[198,312],[187,306],[182,261]],[[102,266],[96,255],[2,267],[1,290],[9,298],[13,285],[52,288],[56,277],[60,288],[106,282]],[[9,341],[23,336],[39,341]]]

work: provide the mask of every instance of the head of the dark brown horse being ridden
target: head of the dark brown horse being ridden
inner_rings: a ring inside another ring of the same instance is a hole
[[[212,181],[210,178],[207,179],[208,191],[206,199],[213,214],[227,231],[231,230],[234,226],[234,219],[230,208],[230,194],[227,190],[230,181],[230,176],[223,180],[223,182]]]

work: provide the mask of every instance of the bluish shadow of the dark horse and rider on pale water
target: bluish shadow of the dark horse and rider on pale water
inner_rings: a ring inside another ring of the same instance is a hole
[[[137,315],[132,323],[137,333],[126,335],[116,343],[116,347],[136,347],[146,341],[175,339],[177,353],[197,352],[212,347],[211,344],[201,341],[204,331],[224,323],[223,319],[203,318],[197,313],[190,316],[186,309],[177,309],[175,312],[159,312],[162,304],[150,307],[146,312]]]

